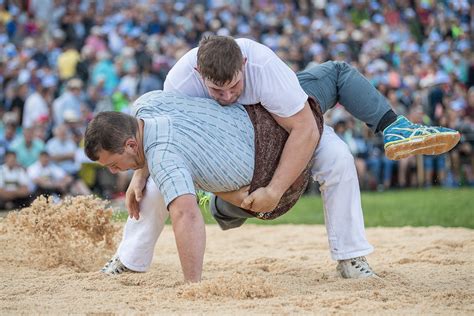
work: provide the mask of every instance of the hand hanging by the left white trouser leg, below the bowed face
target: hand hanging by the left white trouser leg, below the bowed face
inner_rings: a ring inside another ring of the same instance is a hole
[[[130,218],[137,220],[140,218],[140,201],[145,191],[148,176],[149,172],[146,166],[143,169],[135,170],[133,173],[132,180],[125,194],[125,206]]]

